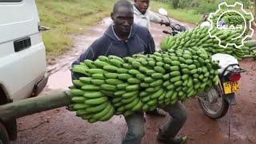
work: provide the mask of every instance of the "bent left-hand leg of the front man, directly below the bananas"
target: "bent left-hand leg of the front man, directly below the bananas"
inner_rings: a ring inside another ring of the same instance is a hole
[[[125,118],[128,130],[122,144],[140,144],[144,135],[144,114],[135,113]]]

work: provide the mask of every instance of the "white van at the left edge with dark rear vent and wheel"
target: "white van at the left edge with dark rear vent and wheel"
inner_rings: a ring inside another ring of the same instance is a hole
[[[0,105],[35,96],[46,86],[41,30],[46,29],[34,0],[0,0]],[[6,133],[11,140],[17,137],[16,121],[0,118],[0,144],[9,142]]]

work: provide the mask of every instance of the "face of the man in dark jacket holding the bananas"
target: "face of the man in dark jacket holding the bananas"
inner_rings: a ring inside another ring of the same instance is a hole
[[[114,27],[119,33],[130,33],[131,26],[134,24],[134,11],[126,6],[120,6],[111,14],[114,21]]]

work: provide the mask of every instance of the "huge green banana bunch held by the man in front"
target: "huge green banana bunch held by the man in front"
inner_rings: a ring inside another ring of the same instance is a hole
[[[132,57],[100,56],[73,67],[70,110],[88,122],[107,121],[186,101],[218,85],[218,62],[192,46]]]

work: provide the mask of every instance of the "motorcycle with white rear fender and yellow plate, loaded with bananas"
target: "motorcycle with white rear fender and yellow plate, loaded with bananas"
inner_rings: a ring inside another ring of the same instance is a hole
[[[167,11],[164,9],[158,10],[159,14],[168,18]],[[200,26],[210,26],[210,22],[202,22]],[[171,25],[171,32],[163,30],[164,34],[172,36],[186,31],[186,28],[181,25]],[[226,115],[230,106],[235,105],[235,94],[239,92],[240,86],[238,84],[241,73],[246,70],[242,69],[238,64],[238,60],[230,54],[214,54],[212,55],[214,61],[218,61],[221,68],[218,70],[220,82],[218,86],[212,87],[210,90],[198,94],[198,103],[204,114],[212,119],[222,118]]]

